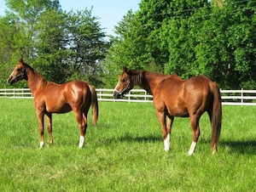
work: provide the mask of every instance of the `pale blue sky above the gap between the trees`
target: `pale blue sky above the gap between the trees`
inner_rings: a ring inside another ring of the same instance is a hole
[[[114,26],[118,25],[128,10],[137,11],[141,0],[59,0],[61,8],[67,12],[92,8],[92,15],[99,18],[104,32],[114,35]],[[0,15],[6,9],[5,0],[0,0]]]

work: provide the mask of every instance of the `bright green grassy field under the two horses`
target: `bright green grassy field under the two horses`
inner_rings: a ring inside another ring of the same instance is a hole
[[[153,104],[100,102],[84,149],[73,112],[53,116],[54,141],[39,150],[32,99],[0,99],[1,191],[256,191],[256,107],[224,106],[218,153],[201,117],[195,155],[189,118],[173,123],[166,153]],[[90,114],[89,114],[89,117]]]

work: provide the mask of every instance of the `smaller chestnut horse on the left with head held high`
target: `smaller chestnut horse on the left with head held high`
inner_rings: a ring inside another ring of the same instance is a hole
[[[33,104],[37,110],[40,148],[44,146],[44,115],[46,115],[49,144],[53,144],[52,137],[52,113],[67,113],[73,110],[80,128],[79,148],[84,145],[84,136],[87,128],[87,113],[92,104],[92,121],[96,124],[98,119],[98,102],[96,90],[86,82],[67,82],[56,84],[48,82],[37,71],[20,59],[15,70],[8,78],[13,84],[22,79],[27,81],[34,97]]]

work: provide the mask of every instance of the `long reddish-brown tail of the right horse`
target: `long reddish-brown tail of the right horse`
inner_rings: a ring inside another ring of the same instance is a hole
[[[222,121],[221,95],[217,83],[213,82],[210,85],[212,91],[212,111],[209,113],[212,122],[212,154],[217,151],[218,138],[220,135]]]

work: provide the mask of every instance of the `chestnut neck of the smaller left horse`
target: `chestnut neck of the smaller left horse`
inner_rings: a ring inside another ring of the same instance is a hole
[[[46,80],[43,76],[40,76],[37,71],[32,68],[26,68],[27,85],[30,88],[32,94],[36,93],[39,88],[44,87]]]

